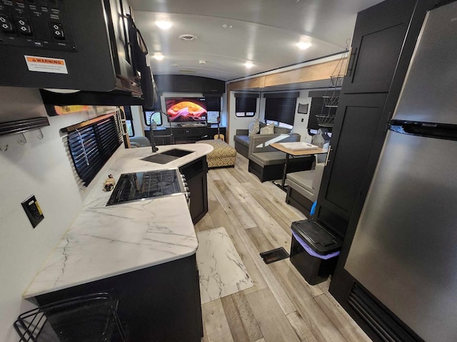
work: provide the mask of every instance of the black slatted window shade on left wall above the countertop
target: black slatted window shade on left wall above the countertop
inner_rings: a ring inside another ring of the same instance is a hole
[[[105,115],[94,123],[82,125],[69,132],[67,142],[76,173],[88,186],[107,160],[122,143],[114,114]]]

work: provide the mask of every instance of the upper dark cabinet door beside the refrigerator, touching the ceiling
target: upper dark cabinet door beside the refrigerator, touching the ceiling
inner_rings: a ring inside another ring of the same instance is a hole
[[[388,92],[416,2],[383,1],[358,14],[343,93]]]

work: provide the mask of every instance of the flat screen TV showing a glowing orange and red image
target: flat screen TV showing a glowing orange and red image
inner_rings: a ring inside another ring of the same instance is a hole
[[[171,123],[206,122],[205,98],[165,98],[165,105]]]

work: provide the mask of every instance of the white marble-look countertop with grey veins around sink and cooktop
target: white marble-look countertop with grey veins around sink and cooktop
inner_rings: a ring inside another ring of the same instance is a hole
[[[106,207],[111,192],[102,191],[110,173],[117,181],[121,173],[176,168],[213,150],[207,144],[183,144],[159,146],[156,153],[173,148],[193,152],[167,164],[141,160],[153,154],[151,147],[121,147],[115,152],[94,180],[96,186],[81,213],[24,291],[24,298],[164,264],[196,252],[198,241],[184,195]]]

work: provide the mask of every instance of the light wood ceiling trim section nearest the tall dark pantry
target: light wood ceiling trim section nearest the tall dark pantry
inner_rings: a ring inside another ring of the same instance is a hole
[[[338,63],[340,63],[339,59],[336,61],[315,64],[313,66],[304,66],[303,68],[290,71],[283,71],[282,73],[273,73],[265,76],[265,86],[281,86],[291,83],[326,80],[340,70]],[[347,58],[344,58],[343,66],[341,67],[342,73],[346,71],[346,63]]]

